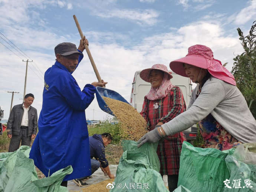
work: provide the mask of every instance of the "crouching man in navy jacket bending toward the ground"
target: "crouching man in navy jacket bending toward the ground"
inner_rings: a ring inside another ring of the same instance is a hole
[[[101,167],[102,172],[106,173],[109,178],[114,179],[115,176],[111,174],[108,160],[106,160],[105,156],[105,147],[111,143],[112,136],[109,133],[103,133],[101,135],[94,134],[89,137],[89,145],[91,152],[91,166],[92,166],[92,174]],[[95,158],[95,159],[93,159]],[[78,186],[88,185],[85,181],[89,179],[90,176],[86,176],[79,179],[74,179],[73,181]]]

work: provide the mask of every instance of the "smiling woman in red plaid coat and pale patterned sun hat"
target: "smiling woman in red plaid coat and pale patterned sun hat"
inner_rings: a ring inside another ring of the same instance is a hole
[[[154,64],[140,72],[141,79],[151,83],[150,92],[144,97],[141,115],[146,120],[149,130],[160,127],[186,110],[181,89],[173,86],[173,77],[165,65]],[[161,139],[158,143],[157,155],[160,160],[160,174],[167,175],[169,190],[177,188],[180,168],[180,153],[183,141],[186,140],[181,131]]]

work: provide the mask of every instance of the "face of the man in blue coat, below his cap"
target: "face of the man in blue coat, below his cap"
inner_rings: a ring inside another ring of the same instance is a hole
[[[78,53],[70,54],[68,56],[62,56],[60,54],[56,55],[57,61],[63,64],[69,72],[73,72],[78,65]]]

